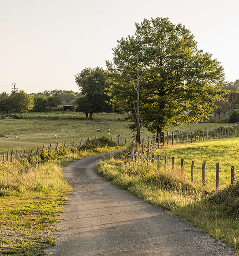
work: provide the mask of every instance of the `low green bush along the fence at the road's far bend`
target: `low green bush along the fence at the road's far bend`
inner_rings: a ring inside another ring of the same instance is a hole
[[[114,142],[113,140],[109,139],[108,137],[102,136],[97,139],[90,139],[87,141],[81,149],[83,150],[93,150],[94,152],[98,152],[97,148],[102,148],[102,147],[116,147],[117,143]]]

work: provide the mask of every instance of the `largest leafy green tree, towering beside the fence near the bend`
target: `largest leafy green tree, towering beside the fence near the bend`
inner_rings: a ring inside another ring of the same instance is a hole
[[[132,80],[138,79],[139,116],[151,132],[161,135],[169,124],[204,121],[216,107],[214,102],[223,99],[223,67],[197,49],[190,30],[168,18],[136,23],[135,35],[119,40],[113,54],[113,63],[106,63],[114,72],[111,103],[120,111],[135,112],[131,101],[136,102],[138,94],[133,93]]]

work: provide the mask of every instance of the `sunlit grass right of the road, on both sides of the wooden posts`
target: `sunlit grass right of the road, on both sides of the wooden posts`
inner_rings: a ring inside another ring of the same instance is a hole
[[[155,154],[174,156],[176,162],[195,160],[195,183],[190,181],[190,165],[184,172],[176,165],[158,170],[144,159],[132,161],[130,152],[101,161],[96,170],[120,188],[189,220],[222,240],[239,253],[239,183],[230,184],[230,164],[239,169],[239,139],[224,139],[188,146],[165,147]],[[183,156],[183,157],[182,157]],[[208,162],[206,186],[201,185],[201,163]],[[220,190],[215,190],[215,162],[219,161]],[[161,166],[162,163],[161,163]],[[236,171],[238,175],[238,171]]]

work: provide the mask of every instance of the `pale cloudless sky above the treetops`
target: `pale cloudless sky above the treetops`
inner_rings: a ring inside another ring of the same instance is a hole
[[[0,93],[78,92],[74,75],[105,68],[117,40],[144,18],[169,17],[239,79],[239,0],[0,0]]]

